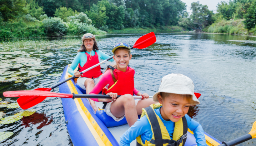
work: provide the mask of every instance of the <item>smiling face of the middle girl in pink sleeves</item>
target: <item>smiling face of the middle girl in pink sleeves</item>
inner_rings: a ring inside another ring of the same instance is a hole
[[[125,72],[129,61],[132,59],[132,54],[129,54],[126,49],[117,49],[114,53],[113,59],[117,63],[117,69]]]

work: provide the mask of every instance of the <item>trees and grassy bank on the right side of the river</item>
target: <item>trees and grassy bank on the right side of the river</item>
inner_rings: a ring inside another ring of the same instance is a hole
[[[256,0],[229,0],[218,3],[217,13],[207,5],[193,2],[192,14],[178,22],[196,32],[256,35]]]

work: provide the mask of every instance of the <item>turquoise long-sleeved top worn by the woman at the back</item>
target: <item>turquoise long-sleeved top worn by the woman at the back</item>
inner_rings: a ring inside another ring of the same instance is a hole
[[[87,52],[87,51],[86,51]],[[99,62],[100,59],[108,59],[110,56],[108,56],[107,54],[103,53],[100,50],[96,50],[98,56],[99,56]],[[90,52],[87,52],[90,55]],[[94,56],[95,52],[92,50],[91,51],[91,55]],[[109,60],[111,62],[114,61],[114,59],[112,58],[111,60]],[[87,62],[87,56],[85,54],[85,52],[78,52],[77,56],[74,58],[71,66],[68,68],[68,73],[70,73],[71,75],[74,75],[75,71],[74,69],[76,69],[76,67],[78,66],[78,63],[80,63],[80,66],[84,66],[84,64]]]

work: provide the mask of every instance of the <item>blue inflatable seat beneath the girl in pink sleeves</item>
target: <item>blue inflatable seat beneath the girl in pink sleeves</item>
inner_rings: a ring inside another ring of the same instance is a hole
[[[127,124],[126,118],[124,117],[121,121],[115,121],[111,116],[108,116],[103,109],[96,111],[96,116],[106,125],[106,127],[115,127]],[[138,115],[140,118],[140,115]]]

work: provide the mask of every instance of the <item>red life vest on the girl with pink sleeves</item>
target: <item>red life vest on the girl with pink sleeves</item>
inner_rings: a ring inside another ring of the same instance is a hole
[[[104,88],[103,93],[107,94],[109,92],[117,93],[118,95],[131,94],[133,95],[134,89],[134,69],[129,67],[126,72],[114,69],[118,75],[117,81],[109,88]]]

